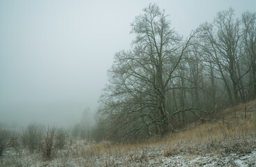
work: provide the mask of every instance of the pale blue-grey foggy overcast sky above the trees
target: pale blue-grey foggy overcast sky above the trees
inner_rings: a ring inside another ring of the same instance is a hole
[[[130,23],[156,3],[184,37],[230,6],[256,1],[0,1],[0,123],[72,125],[96,111],[116,51],[129,49]]]

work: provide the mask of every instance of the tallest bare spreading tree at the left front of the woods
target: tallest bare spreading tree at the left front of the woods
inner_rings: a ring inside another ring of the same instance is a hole
[[[101,98],[103,112],[112,120],[121,120],[123,136],[129,133],[165,134],[172,129],[172,113],[166,109],[166,96],[188,40],[171,28],[165,10],[155,4],[144,8],[144,14],[131,24],[136,35],[130,51],[119,51],[109,71],[110,84]]]

